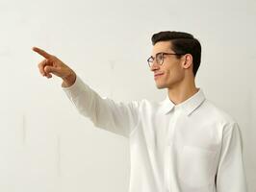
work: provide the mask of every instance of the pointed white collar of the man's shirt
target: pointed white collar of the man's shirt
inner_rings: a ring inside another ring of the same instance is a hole
[[[166,114],[173,108],[181,108],[181,110],[189,116],[192,111],[198,108],[204,101],[205,95],[201,88],[195,94],[193,94],[192,97],[178,105],[174,105],[167,95],[166,99],[162,102],[162,111],[164,114]]]

